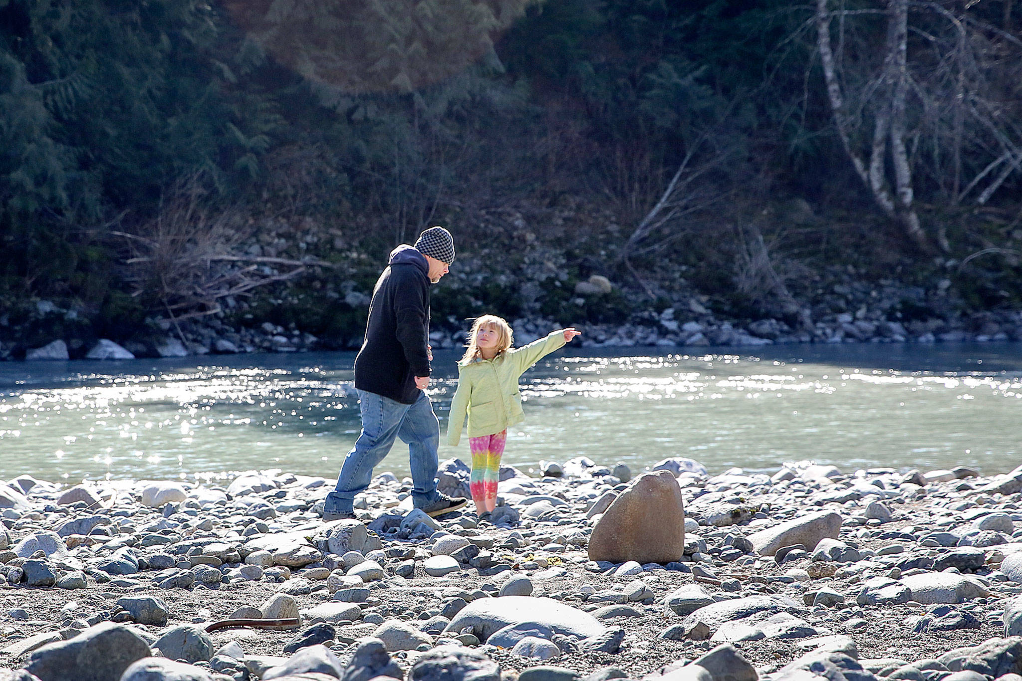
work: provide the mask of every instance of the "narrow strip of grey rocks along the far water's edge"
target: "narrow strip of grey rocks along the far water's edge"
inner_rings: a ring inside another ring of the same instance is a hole
[[[693,310],[702,310],[696,313]],[[754,322],[721,320],[696,300],[686,306],[688,313],[673,306],[647,310],[643,318],[628,324],[575,324],[584,331],[582,347],[662,348],[755,347],[775,343],[962,343],[1022,340],[1022,312],[981,312],[953,319],[929,318],[902,323],[883,313],[838,312],[826,314],[812,329],[792,329],[783,320],[766,318]],[[568,319],[569,318],[563,318]],[[686,321],[687,320],[687,321]],[[542,337],[550,329],[572,322],[560,319],[516,318],[512,320],[515,340],[525,343]],[[136,357],[185,357],[189,355],[236,354],[242,352],[307,352],[311,350],[357,350],[361,336],[353,328],[350,342],[338,345],[291,328],[264,322],[258,327],[232,328],[223,323],[186,325],[180,336],[149,334],[146,340],[123,341],[107,338],[55,340],[38,347],[24,341],[0,340],[0,359],[133,359]],[[17,338],[15,330],[11,338]],[[464,344],[465,330],[434,330],[430,342],[436,348]]]

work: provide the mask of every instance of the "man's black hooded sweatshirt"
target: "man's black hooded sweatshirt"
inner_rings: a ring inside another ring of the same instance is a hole
[[[355,358],[355,387],[412,404],[429,376],[429,263],[412,246],[390,251],[369,303],[366,338]]]

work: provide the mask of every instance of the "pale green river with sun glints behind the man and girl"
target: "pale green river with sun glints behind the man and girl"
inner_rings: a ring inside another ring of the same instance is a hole
[[[844,472],[1022,459],[1022,344],[779,345],[664,354],[579,348],[522,377],[526,422],[504,460],[578,455],[710,472],[815,459]],[[454,351],[430,388],[442,431]],[[350,352],[0,363],[0,478],[223,480],[279,469],[333,478],[359,431]],[[468,459],[466,439],[440,458]],[[400,442],[377,469],[408,473]]]

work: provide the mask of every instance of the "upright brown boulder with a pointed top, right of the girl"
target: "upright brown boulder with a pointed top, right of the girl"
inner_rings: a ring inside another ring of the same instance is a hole
[[[685,505],[668,471],[646,473],[629,484],[597,521],[589,558],[670,563],[685,550]]]

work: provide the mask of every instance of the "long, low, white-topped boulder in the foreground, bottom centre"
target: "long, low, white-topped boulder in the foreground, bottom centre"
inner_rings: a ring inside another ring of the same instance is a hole
[[[461,633],[471,627],[479,640],[486,640],[496,631],[517,624],[545,625],[556,634],[580,639],[598,636],[607,628],[599,620],[580,610],[553,598],[535,596],[499,596],[480,598],[461,609],[444,630]]]

